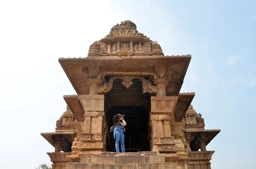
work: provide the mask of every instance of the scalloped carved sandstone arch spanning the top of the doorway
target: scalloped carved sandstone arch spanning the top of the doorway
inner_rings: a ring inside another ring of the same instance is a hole
[[[113,88],[113,82],[117,79],[122,80],[122,86],[126,89],[129,89],[133,84],[132,80],[140,80],[142,83],[142,92],[145,93],[157,93],[157,86],[153,86],[151,81],[146,80],[141,76],[113,76],[109,79],[109,81],[105,81],[99,86],[98,93],[107,93]]]

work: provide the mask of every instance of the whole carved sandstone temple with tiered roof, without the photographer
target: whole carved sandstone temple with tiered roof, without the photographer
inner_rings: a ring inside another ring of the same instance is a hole
[[[55,147],[52,169],[210,169],[206,146],[221,130],[204,128],[195,93],[180,93],[190,60],[165,56],[130,20],[87,57],[59,58],[77,95],[64,95],[55,132],[41,133]],[[115,152],[110,133],[116,114],[127,122],[125,153]]]

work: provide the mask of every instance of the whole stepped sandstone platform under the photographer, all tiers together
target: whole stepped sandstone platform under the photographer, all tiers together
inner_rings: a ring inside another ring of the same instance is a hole
[[[102,152],[82,155],[80,163],[67,163],[66,169],[176,169],[176,164],[157,152]]]

